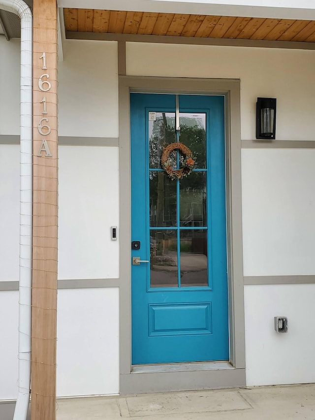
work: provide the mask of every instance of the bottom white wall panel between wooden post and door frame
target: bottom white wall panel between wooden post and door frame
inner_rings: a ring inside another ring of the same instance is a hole
[[[119,392],[119,289],[58,291],[57,395]]]

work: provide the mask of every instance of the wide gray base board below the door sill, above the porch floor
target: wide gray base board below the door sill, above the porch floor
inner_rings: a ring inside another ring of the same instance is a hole
[[[120,395],[240,387],[246,387],[244,368],[120,375]]]

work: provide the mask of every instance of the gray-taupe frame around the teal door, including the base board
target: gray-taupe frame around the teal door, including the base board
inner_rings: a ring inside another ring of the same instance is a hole
[[[131,171],[129,94],[168,93],[225,97],[226,240],[230,363],[171,365],[132,370],[131,365]],[[241,117],[239,79],[119,76],[120,170],[120,393],[232,388],[246,385],[242,240]],[[198,369],[198,370],[197,370]],[[193,384],[193,385],[192,385]]]

